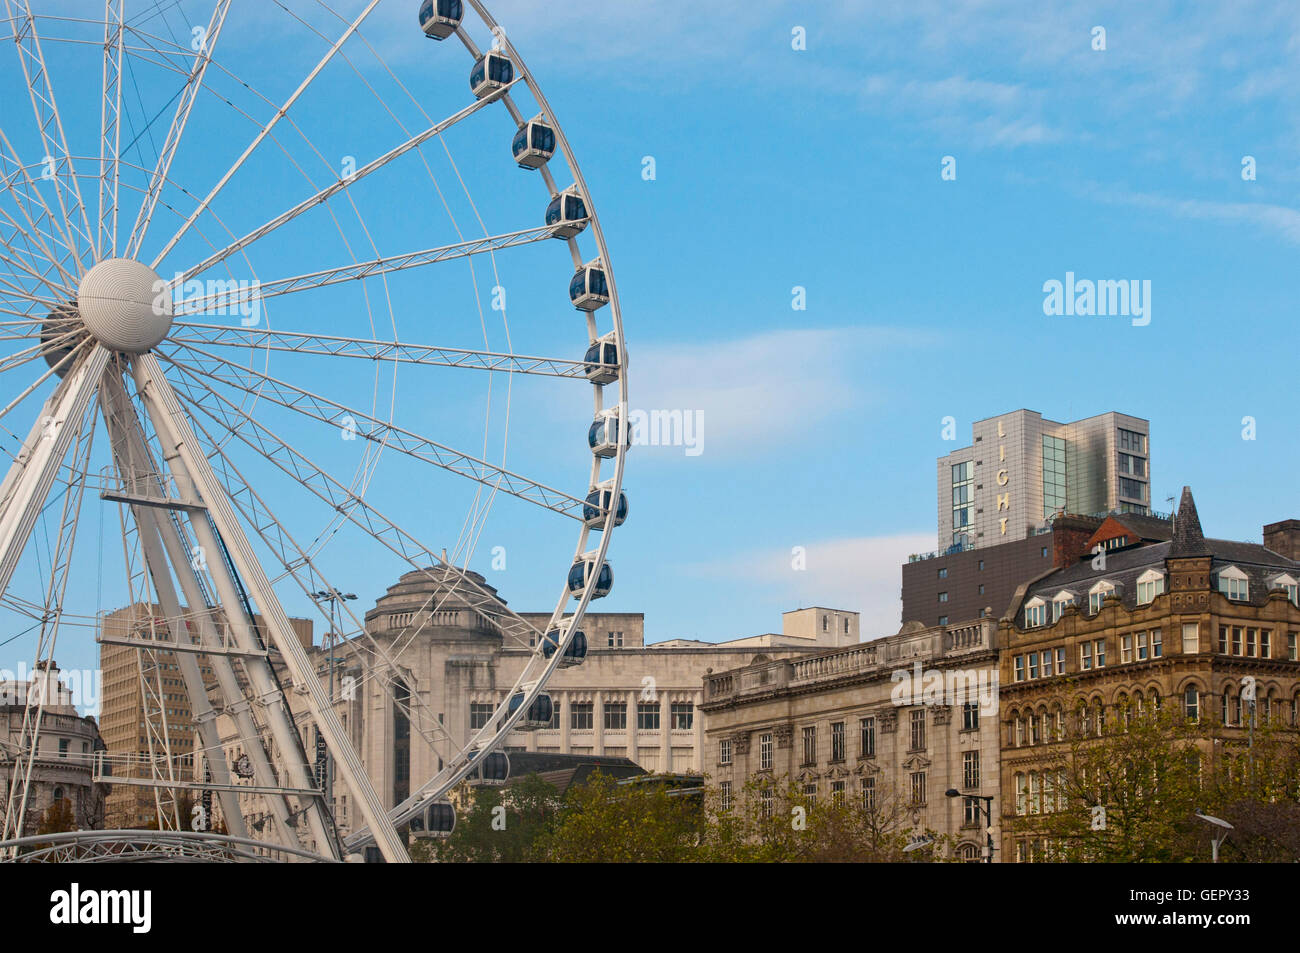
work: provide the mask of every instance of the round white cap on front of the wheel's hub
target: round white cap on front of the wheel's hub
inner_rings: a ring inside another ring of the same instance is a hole
[[[143,354],[172,329],[172,291],[148,265],[105,259],[82,276],[77,311],[104,347]]]

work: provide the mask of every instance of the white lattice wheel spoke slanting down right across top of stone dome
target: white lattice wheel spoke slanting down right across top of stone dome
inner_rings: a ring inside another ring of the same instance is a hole
[[[186,403],[202,411],[217,426],[237,437],[259,456],[274,464],[296,485],[308,489],[333,511],[342,514],[350,523],[359,527],[385,549],[404,559],[415,569],[439,566],[451,572],[459,572],[464,584],[458,590],[469,601],[480,616],[500,631],[500,633],[520,645],[529,645],[542,636],[533,623],[508,608],[485,588],[458,569],[446,556],[438,555],[432,546],[416,540],[396,523],[387,519],[372,504],[355,494],[350,488],[332,477],[324,468],[315,464],[304,454],[295,450],[270,428],[255,419],[239,404],[217,390],[207,386],[202,374],[183,364],[177,364],[182,380],[176,381]]]

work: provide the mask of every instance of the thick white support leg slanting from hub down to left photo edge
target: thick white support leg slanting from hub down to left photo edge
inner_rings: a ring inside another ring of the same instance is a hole
[[[42,407],[4,484],[0,484],[0,593],[9,589],[31,528],[68,455],[75,424],[90,407],[108,358],[108,351],[95,345],[77,361]]]

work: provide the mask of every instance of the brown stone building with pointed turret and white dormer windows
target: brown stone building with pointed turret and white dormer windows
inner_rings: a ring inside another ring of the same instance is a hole
[[[1206,538],[1187,488],[1171,538],[1144,540],[1123,520],[1095,534],[1101,554],[1023,585],[998,624],[1008,859],[1043,850],[1008,820],[1050,809],[1053,780],[1041,768],[1076,732],[1171,705],[1226,724],[1231,740],[1249,718],[1245,676],[1256,680],[1258,719],[1300,725],[1295,521],[1266,527],[1265,545]]]

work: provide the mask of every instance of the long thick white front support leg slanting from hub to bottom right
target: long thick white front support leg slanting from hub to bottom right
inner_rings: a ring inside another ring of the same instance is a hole
[[[247,584],[250,594],[257,605],[257,610],[266,620],[266,628],[289,668],[294,688],[304,693],[304,701],[312,718],[320,728],[326,746],[334,754],[335,764],[343,775],[344,783],[351,788],[352,796],[356,798],[363,822],[374,832],[376,844],[389,863],[410,863],[411,858],[407,854],[406,844],[389,820],[378,796],[370,787],[365,768],[347,740],[347,735],[338,719],[338,714],[330,703],[330,698],[321,688],[320,679],[312,671],[307,651],[298,641],[298,636],[289,623],[289,616],[280,605],[280,599],[276,597],[276,592],[266,573],[263,571],[261,563],[257,562],[252,546],[243,528],[239,525],[234,508],[222,490],[221,482],[212,471],[208,458],[203,454],[176,391],[172,390],[170,384],[162,374],[157,358],[153,354],[143,354],[135,358],[131,364],[135,373],[136,390],[144,397],[150,407],[155,429],[159,432],[160,438],[164,439],[168,451],[177,455],[176,460],[169,463],[173,468],[179,464],[188,471],[195,490],[208,507],[212,525],[221,534],[221,541],[225,542],[235,569]],[[220,543],[208,521],[196,520],[194,527],[199,543],[211,545],[214,547],[212,551],[217,551],[216,547]],[[234,580],[230,579],[221,560],[214,560],[214,563],[213,568],[216,571],[212,575],[218,590],[224,590],[221,592],[222,602],[231,607],[238,606],[239,601]],[[231,615],[231,621],[235,618]],[[248,668],[250,677],[260,672],[260,677],[255,681],[255,688],[260,694],[265,696],[276,692],[268,666],[248,666]],[[256,684],[257,681],[263,684]],[[270,706],[268,714],[273,732],[277,736],[276,742],[285,754],[286,768],[295,775],[294,784],[302,788],[312,787],[306,762],[296,762],[287,754],[294,750],[302,750],[299,748],[298,732],[292,722],[287,718],[287,699],[282,705]],[[313,832],[317,837],[317,849],[333,852],[337,846],[325,829],[322,809],[324,801],[316,798],[312,810],[308,811],[308,819],[312,822]]]

